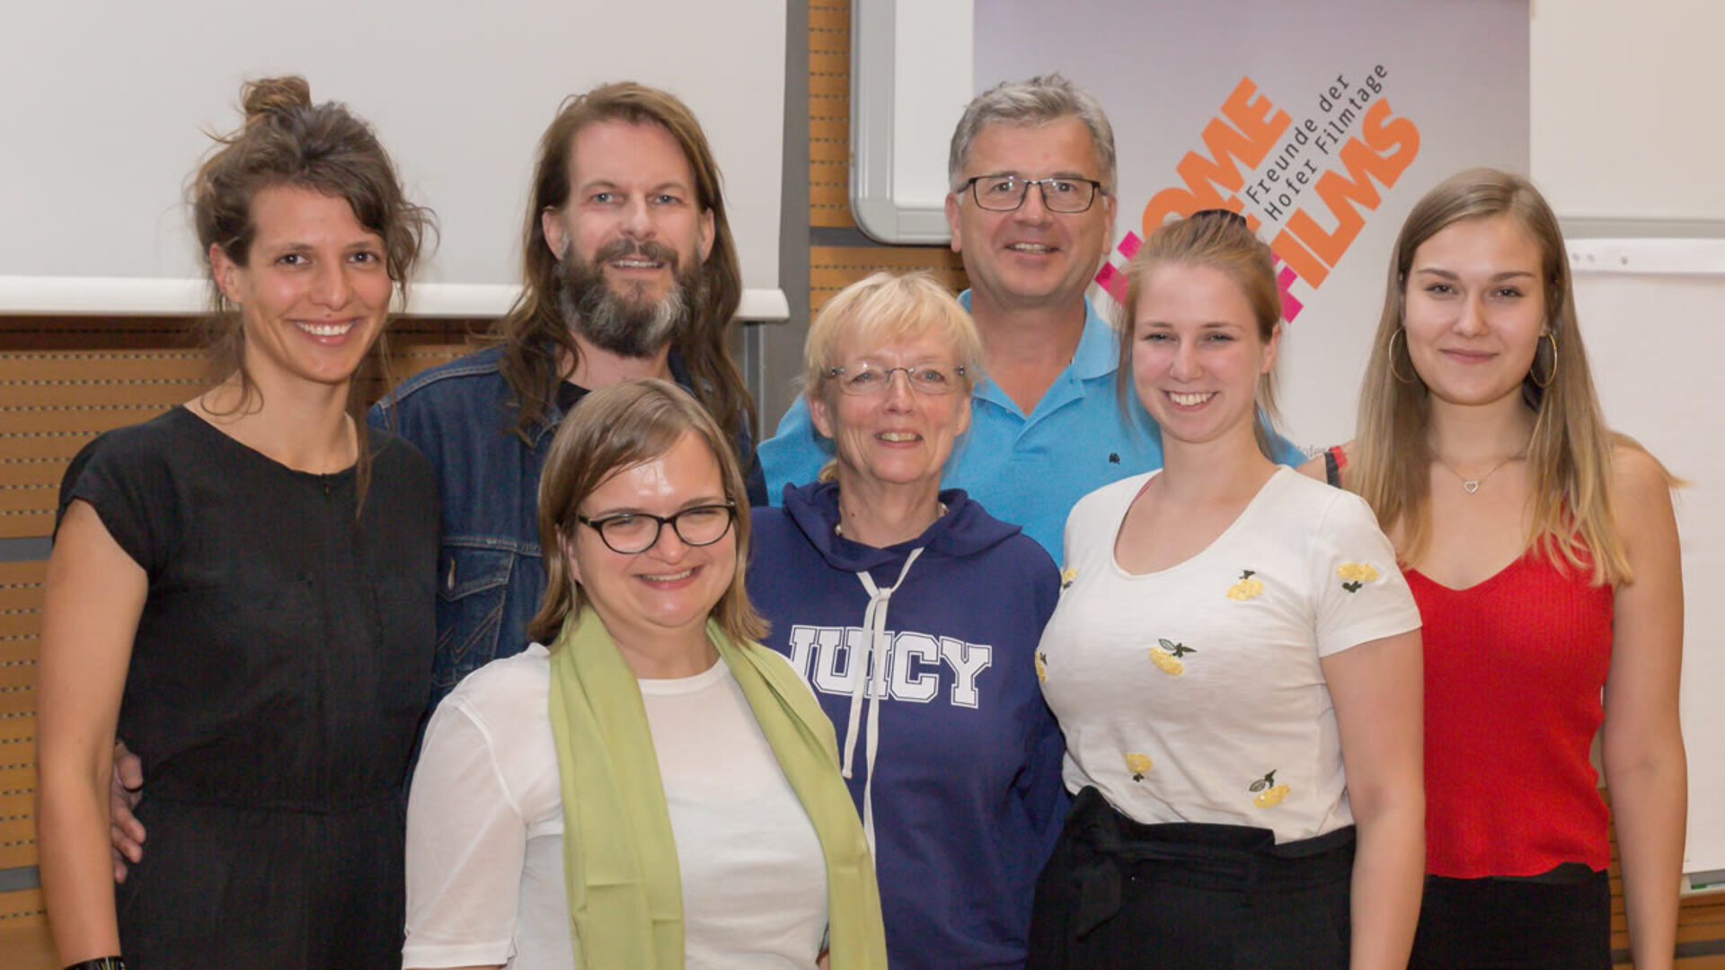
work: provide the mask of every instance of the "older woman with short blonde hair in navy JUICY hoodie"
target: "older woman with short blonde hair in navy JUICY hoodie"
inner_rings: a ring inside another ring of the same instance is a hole
[[[1066,808],[1035,659],[1059,575],[940,490],[982,342],[928,274],[876,273],[828,300],[804,359],[837,459],[756,509],[749,597],[838,730],[892,967],[1021,967]]]

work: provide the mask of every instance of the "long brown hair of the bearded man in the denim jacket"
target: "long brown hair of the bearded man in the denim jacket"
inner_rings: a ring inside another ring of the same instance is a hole
[[[538,166],[533,169],[533,198],[523,223],[521,297],[497,323],[493,337],[502,343],[502,375],[518,406],[516,435],[531,442],[557,397],[557,361],[581,352],[569,333],[559,300],[562,280],[557,255],[545,243],[540,216],[569,202],[569,162],[574,136],[600,121],[659,124],[676,138],[695,176],[695,195],[702,211],[712,212],[712,250],[704,264],[706,300],[693,307],[687,330],[673,343],[688,368],[693,392],[712,413],[731,440],[740,431],[754,433],[754,404],[743,376],[731,362],[728,338],[731,318],[742,302],[742,269],[737,243],[724,217],[719,166],[712,161],[707,136],[693,112],[674,95],[623,81],[604,85],[562,102],[557,117],[540,136]]]

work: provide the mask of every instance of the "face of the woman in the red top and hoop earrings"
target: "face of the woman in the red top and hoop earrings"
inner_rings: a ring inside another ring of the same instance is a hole
[[[1420,380],[1451,404],[1520,394],[1547,326],[1544,293],[1539,243],[1509,216],[1465,219],[1425,240],[1402,293]]]

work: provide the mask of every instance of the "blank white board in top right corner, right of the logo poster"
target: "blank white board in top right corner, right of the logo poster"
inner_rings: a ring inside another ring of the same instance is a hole
[[[1532,176],[1568,224],[1725,235],[1725,3],[1534,0]]]

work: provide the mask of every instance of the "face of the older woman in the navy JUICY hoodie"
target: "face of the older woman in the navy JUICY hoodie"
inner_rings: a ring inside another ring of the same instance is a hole
[[[844,394],[828,380],[809,397],[816,430],[833,438],[838,452],[840,490],[847,483],[938,488],[952,442],[969,428],[969,394],[954,373],[956,350],[935,335],[876,347],[857,347],[845,337],[838,340],[835,361],[852,373],[861,364],[875,369],[930,366],[952,378],[947,394],[916,392],[906,373],[894,371],[878,394]]]

